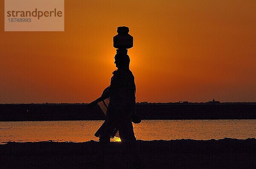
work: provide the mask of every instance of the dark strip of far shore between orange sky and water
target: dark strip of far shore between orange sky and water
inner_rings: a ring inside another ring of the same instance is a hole
[[[136,104],[142,120],[155,119],[256,119],[256,102]],[[76,104],[0,104],[0,121],[104,120],[98,105]]]

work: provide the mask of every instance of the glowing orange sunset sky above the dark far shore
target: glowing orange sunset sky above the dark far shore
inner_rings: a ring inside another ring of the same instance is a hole
[[[64,32],[5,32],[0,103],[87,103],[110,84],[128,26],[137,101],[256,101],[255,0],[65,0]]]

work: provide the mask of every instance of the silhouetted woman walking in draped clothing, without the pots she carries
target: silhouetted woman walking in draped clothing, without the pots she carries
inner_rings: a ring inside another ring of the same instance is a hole
[[[135,113],[136,86],[134,76],[129,69],[130,58],[127,54],[116,54],[117,70],[113,72],[110,86],[103,95],[109,95],[110,101],[106,113],[105,127],[100,132],[100,142],[110,142],[113,129],[119,131],[122,142],[135,142],[132,117]]]

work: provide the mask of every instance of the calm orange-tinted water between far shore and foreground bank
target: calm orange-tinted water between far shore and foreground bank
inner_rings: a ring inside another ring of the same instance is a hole
[[[98,141],[103,121],[0,122],[0,143],[7,141]],[[143,120],[134,124],[140,140],[256,138],[256,120]],[[112,141],[119,141],[118,138]]]

